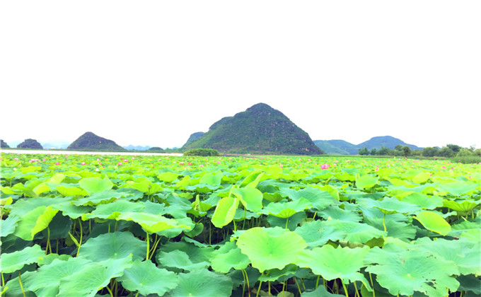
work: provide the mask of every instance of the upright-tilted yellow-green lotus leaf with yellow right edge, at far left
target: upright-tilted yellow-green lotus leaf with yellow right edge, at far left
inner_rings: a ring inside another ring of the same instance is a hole
[[[23,240],[33,240],[35,234],[47,228],[58,210],[52,206],[39,206],[21,217],[14,234]]]

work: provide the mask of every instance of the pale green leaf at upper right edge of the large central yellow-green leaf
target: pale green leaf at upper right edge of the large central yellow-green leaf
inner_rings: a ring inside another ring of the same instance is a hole
[[[297,227],[294,232],[301,235],[309,247],[325,245],[329,240],[342,240],[346,236],[343,231],[325,226],[323,221],[306,222],[301,227]]]

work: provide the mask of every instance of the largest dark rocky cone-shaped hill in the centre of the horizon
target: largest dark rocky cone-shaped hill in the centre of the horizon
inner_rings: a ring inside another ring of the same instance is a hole
[[[311,137],[279,110],[258,103],[224,117],[183,149],[214,148],[221,153],[313,155],[324,153]]]

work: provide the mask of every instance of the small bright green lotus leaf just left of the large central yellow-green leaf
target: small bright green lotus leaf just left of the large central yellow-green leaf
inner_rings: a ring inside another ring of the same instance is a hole
[[[250,260],[240,252],[236,243],[227,242],[213,253],[211,263],[212,269],[216,272],[227,273],[231,268],[245,269],[250,264]]]

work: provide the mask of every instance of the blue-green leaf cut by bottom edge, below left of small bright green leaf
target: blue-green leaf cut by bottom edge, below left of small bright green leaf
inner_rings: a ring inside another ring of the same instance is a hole
[[[200,269],[187,274],[179,274],[179,285],[168,292],[173,297],[227,297],[232,293],[232,281],[228,276]]]

